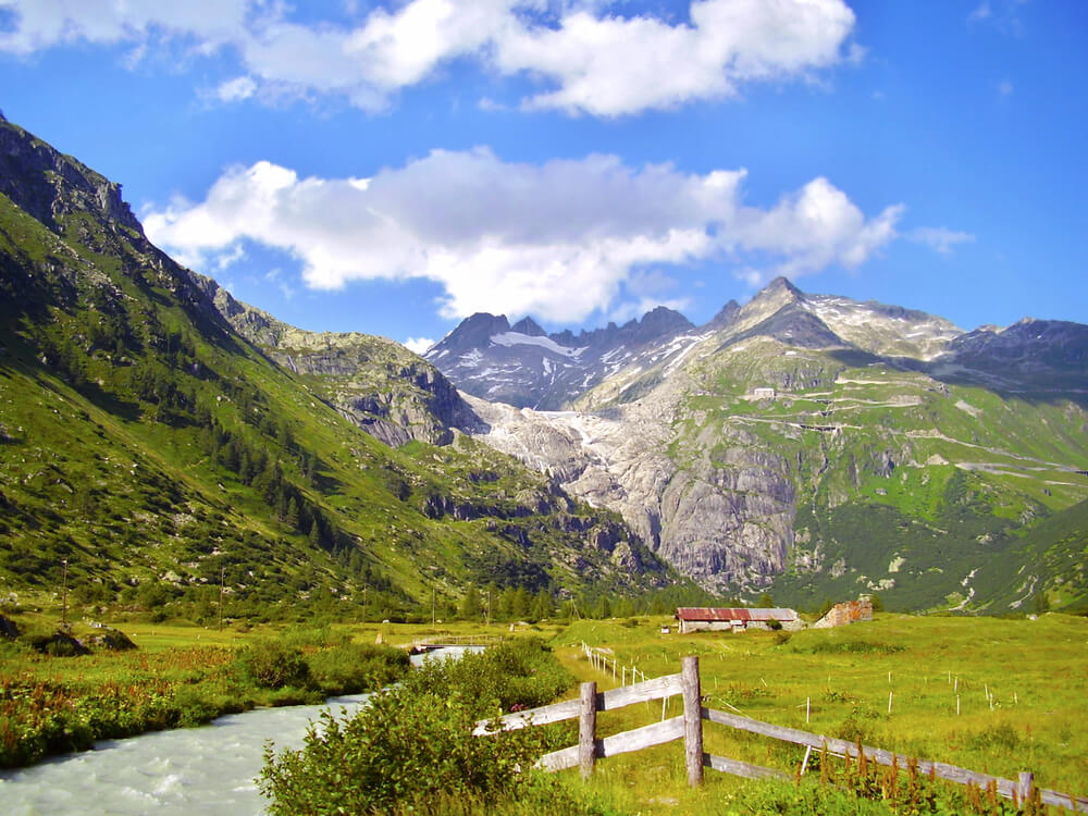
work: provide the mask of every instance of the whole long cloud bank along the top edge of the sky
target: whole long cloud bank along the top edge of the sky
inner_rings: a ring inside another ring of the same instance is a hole
[[[400,88],[470,58],[500,75],[544,86],[529,108],[617,116],[733,96],[752,82],[812,77],[863,50],[848,39],[843,0],[694,0],[689,20],[620,16],[620,0],[411,0],[379,7],[355,26],[300,24],[287,7],[259,0],[0,0],[13,12],[0,50],[15,53],[79,40],[190,41],[230,46],[245,79],[223,101],[335,94],[382,110]],[[139,49],[134,53],[143,53]]]

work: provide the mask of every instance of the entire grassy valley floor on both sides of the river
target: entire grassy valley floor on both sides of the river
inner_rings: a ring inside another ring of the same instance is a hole
[[[544,639],[577,681],[595,680],[603,690],[619,685],[621,678],[594,669],[583,643],[651,678],[678,672],[683,656],[698,655],[708,707],[1006,778],[1030,770],[1041,788],[1088,793],[1088,619],[1056,614],[1037,620],[881,614],[873,622],[832,630],[681,635],[672,626],[672,633],[662,633],[663,625],[673,623],[654,616],[554,621],[516,626],[512,635]],[[13,704],[13,691],[18,689],[66,690],[67,703],[77,708],[87,704],[84,697],[96,694],[135,695],[151,714],[159,713],[158,719],[150,716],[148,727],[164,728],[196,725],[222,710],[301,702],[307,694],[333,688],[313,677],[306,690],[260,687],[239,663],[239,655],[256,644],[294,644],[320,668],[316,654],[347,644],[372,646],[379,638],[398,646],[417,639],[511,635],[509,625],[465,621],[343,623],[309,632],[134,621],[121,628],[137,650],[53,657],[0,644],[0,691],[5,692],[0,731],[10,738],[17,726],[13,718],[21,709]],[[335,673],[325,672],[326,680]],[[577,693],[576,683],[567,696]],[[195,707],[207,716],[191,721],[184,715],[168,716],[163,704],[154,707],[157,700],[180,701],[183,710]],[[679,696],[666,702],[666,716],[680,712]],[[602,712],[598,734],[662,716],[659,701]],[[140,730],[135,724],[133,728]],[[572,744],[577,727],[570,728]],[[790,774],[804,756],[802,747],[709,722],[704,724],[704,741],[709,753]],[[811,759],[809,768],[818,780],[818,761]],[[577,770],[556,779],[580,801],[597,803],[602,813],[630,814],[725,814],[734,807],[746,813],[756,786],[707,770],[703,788],[689,789],[679,743],[601,759],[586,783]]]

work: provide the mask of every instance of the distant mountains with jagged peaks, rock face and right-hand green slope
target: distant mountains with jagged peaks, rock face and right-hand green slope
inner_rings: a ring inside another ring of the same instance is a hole
[[[716,592],[989,611],[1083,597],[1084,529],[1033,532],[1085,514],[1083,324],[964,332],[778,279],[703,326],[659,308],[547,335],[475,314],[425,357],[474,396],[479,438]]]

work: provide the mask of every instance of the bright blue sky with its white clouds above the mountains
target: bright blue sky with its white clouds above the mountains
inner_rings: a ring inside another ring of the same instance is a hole
[[[0,0],[0,109],[314,331],[702,323],[779,274],[1086,322],[1086,32],[1056,0]]]

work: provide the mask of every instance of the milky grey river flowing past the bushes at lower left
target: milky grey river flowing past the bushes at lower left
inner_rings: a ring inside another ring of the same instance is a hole
[[[444,657],[454,657],[462,650],[442,652]],[[255,779],[263,764],[264,741],[273,740],[277,751],[300,747],[307,724],[323,709],[350,715],[367,696],[261,708],[220,717],[202,728],[102,740],[92,751],[0,771],[0,813],[263,814],[264,799]]]

